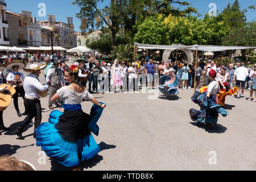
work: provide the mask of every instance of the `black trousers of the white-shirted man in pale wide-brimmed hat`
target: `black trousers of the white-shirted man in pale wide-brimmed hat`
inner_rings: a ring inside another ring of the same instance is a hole
[[[28,115],[23,120],[22,124],[16,129],[18,133],[22,133],[24,128],[28,125],[28,123],[31,122],[33,118],[35,118],[34,131],[41,124],[42,121],[42,107],[40,100],[29,100],[25,98],[24,105],[27,108]]]

